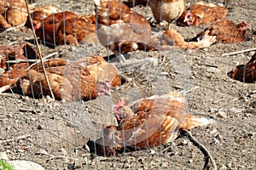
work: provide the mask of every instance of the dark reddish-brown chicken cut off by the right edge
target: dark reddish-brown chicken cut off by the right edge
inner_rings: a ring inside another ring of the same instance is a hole
[[[237,65],[228,76],[240,82],[256,82],[256,53],[246,65]]]

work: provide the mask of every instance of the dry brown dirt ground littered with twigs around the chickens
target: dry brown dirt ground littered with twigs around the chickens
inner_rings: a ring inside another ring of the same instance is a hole
[[[189,3],[189,1],[186,1]],[[218,1],[221,3],[220,1]],[[193,2],[190,2],[193,3]],[[84,1],[38,1],[38,5],[56,5],[78,14],[93,13],[93,3]],[[256,1],[230,2],[228,19],[238,23],[246,20],[256,26]],[[152,16],[150,8],[134,8],[140,14]],[[203,29],[178,27],[184,37],[193,37]],[[249,40],[236,44],[215,44],[210,48],[182,51],[173,48],[167,54],[160,52],[133,52],[132,59],[154,58],[154,63],[120,67],[120,73],[131,77],[112,89],[112,98],[102,97],[88,102],[66,103],[49,97],[32,99],[14,91],[0,94],[0,152],[10,160],[38,162],[46,169],[202,169],[205,159],[185,136],[172,144],[150,150],[126,152],[113,157],[95,156],[85,149],[89,139],[102,133],[102,125],[115,123],[109,102],[118,99],[135,100],[153,94],[177,90],[189,91],[189,111],[211,118],[211,127],[199,127],[191,133],[212,153],[218,169],[256,169],[255,121],[256,84],[231,80],[227,72],[235,65],[246,63],[254,52],[222,56],[222,54],[255,48],[255,30]],[[1,44],[20,44],[32,39],[32,31],[18,30],[1,34]],[[90,54],[111,54],[101,45],[79,48],[61,46],[47,48],[45,54],[65,51],[62,58],[79,59]],[[195,88],[198,87],[198,88]],[[212,167],[209,167],[212,169]]]

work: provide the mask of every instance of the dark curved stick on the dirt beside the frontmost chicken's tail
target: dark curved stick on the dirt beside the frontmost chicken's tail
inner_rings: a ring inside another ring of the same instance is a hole
[[[206,146],[204,146],[197,139],[195,139],[195,137],[188,130],[183,129],[183,131],[181,133],[183,133],[184,136],[186,136],[193,144],[195,144],[195,146],[197,146],[201,150],[201,152],[204,154],[204,156],[206,156],[207,159],[206,159],[203,169],[206,169],[208,161],[210,159],[212,162],[213,169],[217,170],[216,162],[214,161],[210,151],[207,150]]]

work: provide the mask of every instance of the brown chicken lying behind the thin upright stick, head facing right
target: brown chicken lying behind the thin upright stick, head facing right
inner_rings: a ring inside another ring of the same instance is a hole
[[[69,65],[65,60],[49,60],[46,71],[55,99],[89,100],[109,93],[110,84],[107,80],[96,82],[85,67]],[[24,94],[33,95],[33,97],[50,95],[43,71],[28,71],[26,77],[20,81],[20,88]]]

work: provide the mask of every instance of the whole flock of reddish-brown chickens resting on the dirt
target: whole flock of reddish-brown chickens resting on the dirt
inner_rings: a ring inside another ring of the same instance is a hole
[[[216,42],[245,42],[247,31],[251,30],[245,20],[236,24],[225,19],[228,9],[219,4],[197,2],[186,8],[183,0],[129,1],[131,6],[149,5],[158,24],[163,20],[177,26],[209,24],[204,31],[185,41],[170,26],[165,31],[152,31],[150,21],[119,0],[94,2],[96,14],[79,15],[53,6],[34,7],[30,4],[29,16],[24,0],[0,0],[0,31],[22,25],[33,29],[42,44],[53,48],[63,44],[79,46],[100,42],[113,51],[119,62],[125,62],[123,54],[136,50],[168,50],[173,46],[186,50],[206,48]],[[96,99],[101,95],[111,95],[110,88],[121,85],[117,67],[97,54],[73,61],[46,59],[43,63],[29,62],[39,58],[38,50],[28,42],[20,46],[1,45],[0,92],[19,88],[33,98],[50,95],[43,65],[58,100]],[[29,60],[18,62],[20,59]],[[256,54],[247,65],[236,66],[228,76],[241,82],[255,82]],[[174,92],[140,99],[130,105],[119,101],[113,107],[113,116],[119,126],[104,127],[104,135],[96,141],[98,154],[114,155],[124,150],[124,144],[130,150],[166,144],[183,129],[210,123],[207,118],[190,115],[187,99]]]

